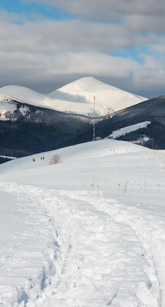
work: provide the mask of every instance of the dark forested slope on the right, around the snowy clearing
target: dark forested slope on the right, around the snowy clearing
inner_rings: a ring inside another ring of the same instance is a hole
[[[165,96],[140,102],[114,112],[106,119],[99,120],[96,129],[97,133],[104,137],[106,134],[110,135],[114,130],[145,121],[149,121],[151,124],[146,128],[130,131],[116,139],[134,142],[153,149],[165,149]]]

